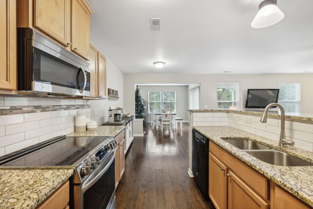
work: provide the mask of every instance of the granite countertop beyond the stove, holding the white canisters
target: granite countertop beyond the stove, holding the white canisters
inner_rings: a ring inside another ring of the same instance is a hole
[[[125,126],[99,126],[96,131],[73,132],[67,137],[110,137],[120,133]]]

